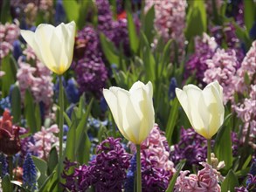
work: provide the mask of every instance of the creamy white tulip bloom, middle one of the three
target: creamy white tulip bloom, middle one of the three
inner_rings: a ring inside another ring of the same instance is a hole
[[[129,91],[112,86],[103,89],[104,98],[121,134],[135,144],[141,144],[155,124],[153,87],[137,81]]]

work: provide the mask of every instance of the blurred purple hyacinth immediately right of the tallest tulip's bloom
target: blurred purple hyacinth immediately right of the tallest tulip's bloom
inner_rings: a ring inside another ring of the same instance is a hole
[[[78,32],[74,54],[79,58],[73,69],[80,93],[89,92],[100,97],[107,81],[107,68],[100,51],[98,34],[92,27],[87,26]]]

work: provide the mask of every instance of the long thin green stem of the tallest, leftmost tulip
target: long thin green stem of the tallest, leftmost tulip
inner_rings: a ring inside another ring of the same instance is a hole
[[[63,111],[64,111],[64,96],[62,77],[59,75],[59,175],[61,175],[61,160],[62,160],[62,142],[63,142]]]

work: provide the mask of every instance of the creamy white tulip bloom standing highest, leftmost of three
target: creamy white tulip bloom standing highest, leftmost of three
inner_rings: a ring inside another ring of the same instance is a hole
[[[75,23],[39,24],[35,32],[21,31],[21,36],[35,51],[37,57],[52,72],[63,74],[73,59]]]

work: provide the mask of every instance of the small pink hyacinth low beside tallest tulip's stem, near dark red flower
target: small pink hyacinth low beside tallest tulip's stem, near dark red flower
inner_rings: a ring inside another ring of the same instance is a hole
[[[42,127],[40,132],[32,136],[33,140],[28,142],[28,151],[37,154],[39,158],[47,159],[52,146],[59,143],[59,138],[54,135],[57,133],[59,133],[57,125]]]

